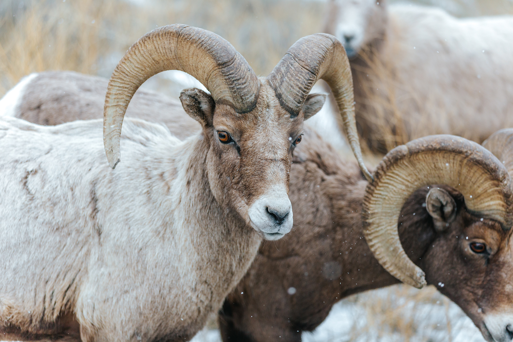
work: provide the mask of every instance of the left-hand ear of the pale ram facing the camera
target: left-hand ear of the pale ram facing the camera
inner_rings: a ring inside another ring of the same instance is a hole
[[[212,96],[198,88],[188,88],[180,93],[180,101],[187,114],[203,126],[212,125],[215,102]]]

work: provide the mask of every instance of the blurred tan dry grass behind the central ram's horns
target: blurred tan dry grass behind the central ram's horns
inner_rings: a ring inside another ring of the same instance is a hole
[[[297,39],[321,30],[323,10],[301,0],[2,0],[0,96],[31,72],[108,77],[137,38],[174,23],[220,34],[265,75]]]

